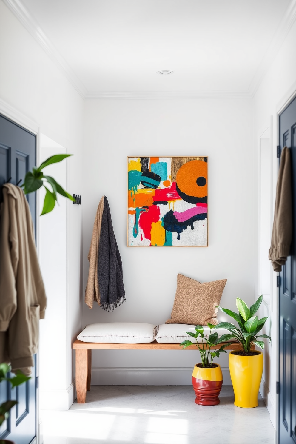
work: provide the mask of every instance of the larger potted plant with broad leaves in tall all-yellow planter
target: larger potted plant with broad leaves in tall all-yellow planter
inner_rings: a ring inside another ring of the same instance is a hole
[[[271,338],[266,334],[261,334],[267,317],[258,319],[255,313],[262,302],[262,294],[255,304],[250,308],[237,297],[238,313],[229,309],[218,308],[237,321],[238,326],[230,322],[220,322],[214,328],[224,328],[229,330],[230,336],[241,344],[241,350],[232,350],[229,353],[229,371],[234,390],[234,405],[237,407],[257,407],[258,392],[263,372],[263,353],[260,350],[251,350],[253,344],[264,349],[264,342],[260,338]]]

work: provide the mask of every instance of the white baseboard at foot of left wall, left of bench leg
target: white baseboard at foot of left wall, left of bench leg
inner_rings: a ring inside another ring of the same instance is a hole
[[[69,410],[76,398],[75,380],[65,390],[39,391],[41,410]]]

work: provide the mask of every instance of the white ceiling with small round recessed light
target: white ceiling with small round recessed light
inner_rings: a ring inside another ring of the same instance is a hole
[[[251,97],[296,17],[295,0],[3,1],[86,99]]]

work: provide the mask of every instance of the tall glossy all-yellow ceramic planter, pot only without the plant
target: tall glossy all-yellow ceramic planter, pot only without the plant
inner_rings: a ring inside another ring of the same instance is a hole
[[[253,356],[229,353],[229,371],[234,390],[234,405],[257,407],[258,392],[263,372],[263,353]]]

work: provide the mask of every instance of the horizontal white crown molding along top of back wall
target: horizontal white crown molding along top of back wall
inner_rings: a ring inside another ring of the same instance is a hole
[[[142,99],[220,99],[252,96],[249,91],[98,91],[87,92],[85,100],[142,100]]]

